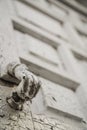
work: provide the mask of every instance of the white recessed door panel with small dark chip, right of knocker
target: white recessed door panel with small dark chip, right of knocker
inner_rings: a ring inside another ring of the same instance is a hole
[[[71,115],[72,118],[82,118],[79,102],[72,90],[64,88],[49,80],[43,78],[40,79],[42,81],[43,102],[45,102],[46,105],[43,107],[46,107],[47,111],[50,111],[51,108],[53,109],[53,113],[57,110],[67,116]],[[43,110],[45,110],[45,108]]]

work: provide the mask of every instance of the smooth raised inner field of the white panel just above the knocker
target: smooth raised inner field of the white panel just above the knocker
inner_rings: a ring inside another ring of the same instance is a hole
[[[29,51],[31,54],[36,55],[42,60],[58,65],[58,55],[56,49],[52,46],[30,36],[26,36],[26,41],[29,45]]]

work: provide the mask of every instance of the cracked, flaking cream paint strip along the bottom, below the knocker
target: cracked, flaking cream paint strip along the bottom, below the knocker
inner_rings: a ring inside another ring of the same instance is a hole
[[[11,109],[5,99],[13,89],[13,84],[3,83],[3,81],[0,81],[0,84],[0,130],[82,130],[85,128],[82,122],[73,119],[65,117],[55,119],[34,114],[29,102],[24,105],[23,111]]]

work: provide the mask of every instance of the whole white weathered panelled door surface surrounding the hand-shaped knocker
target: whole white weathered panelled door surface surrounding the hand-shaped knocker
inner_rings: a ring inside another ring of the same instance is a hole
[[[87,130],[87,9],[62,2],[0,1],[0,130]],[[22,111],[6,102],[12,61],[42,83]]]

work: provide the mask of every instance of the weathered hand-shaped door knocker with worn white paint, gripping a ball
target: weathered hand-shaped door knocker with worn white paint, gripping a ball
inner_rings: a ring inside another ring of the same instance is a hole
[[[41,86],[41,82],[37,76],[28,70],[26,65],[11,63],[8,65],[8,74],[17,78],[20,83],[11,96],[6,98],[10,107],[15,110],[22,110],[26,101],[32,100],[36,96]]]

